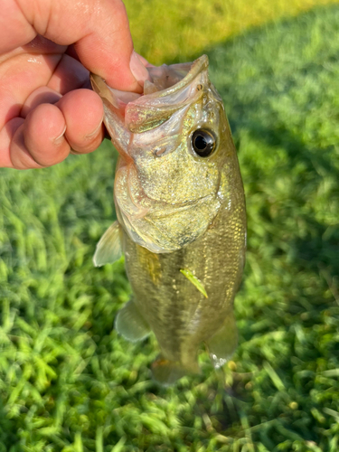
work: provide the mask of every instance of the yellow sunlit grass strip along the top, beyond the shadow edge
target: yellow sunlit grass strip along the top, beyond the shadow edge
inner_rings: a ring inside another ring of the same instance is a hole
[[[338,0],[126,0],[137,52],[153,64],[187,61],[231,36]]]

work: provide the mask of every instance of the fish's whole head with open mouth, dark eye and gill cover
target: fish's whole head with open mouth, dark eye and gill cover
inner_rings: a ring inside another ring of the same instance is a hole
[[[235,154],[208,58],[147,68],[144,94],[110,89],[91,76],[120,159],[118,221],[137,244],[172,252],[207,230],[228,195],[225,165]]]

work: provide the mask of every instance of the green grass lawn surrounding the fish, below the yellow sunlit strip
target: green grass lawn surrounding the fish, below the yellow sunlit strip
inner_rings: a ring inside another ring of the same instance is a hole
[[[159,388],[155,339],[113,329],[123,261],[91,262],[114,218],[108,142],[0,172],[0,452],[337,452],[338,36],[327,6],[207,49],[249,219],[240,345],[220,371],[202,352],[202,376]]]

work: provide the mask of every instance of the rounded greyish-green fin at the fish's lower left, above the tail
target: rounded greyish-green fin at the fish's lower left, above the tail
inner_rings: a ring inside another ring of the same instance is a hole
[[[123,335],[125,339],[130,342],[137,342],[145,339],[151,331],[133,300],[129,300],[128,303],[120,309],[115,326],[118,333]]]

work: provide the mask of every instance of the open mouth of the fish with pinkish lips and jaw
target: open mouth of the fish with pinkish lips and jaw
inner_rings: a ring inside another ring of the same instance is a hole
[[[90,82],[115,120],[122,121],[130,132],[141,133],[165,122],[185,103],[192,102],[192,91],[196,95],[204,83],[210,84],[208,65],[207,55],[193,62],[150,65],[146,67],[150,80],[145,81],[143,94],[110,88],[95,74],[90,74]],[[197,86],[191,86],[202,72],[205,77]]]

